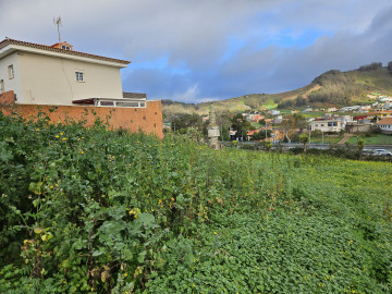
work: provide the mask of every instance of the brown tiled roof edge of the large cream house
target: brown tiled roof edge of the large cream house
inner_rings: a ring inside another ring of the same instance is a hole
[[[78,51],[71,51],[71,50],[64,50],[64,49],[53,48],[53,47],[47,46],[47,45],[39,45],[39,44],[34,44],[34,42],[28,42],[28,41],[21,41],[21,40],[14,40],[14,39],[3,39],[2,41],[0,41],[0,49],[4,48],[4,47],[8,46],[8,45],[19,45],[19,46],[24,46],[24,47],[29,47],[29,48],[35,48],[35,49],[42,49],[42,50],[47,50],[47,51],[64,53],[64,54],[69,54],[69,56],[77,56],[77,57],[84,57],[84,58],[91,58],[91,59],[98,59],[98,60],[103,60],[103,61],[117,62],[117,63],[122,63],[122,64],[128,64],[128,63],[131,63],[131,61],[126,61],[126,60],[114,59],[114,58],[107,58],[107,57],[100,57],[100,56],[94,56],[94,54],[89,54],[89,53],[84,53],[84,52],[78,52]]]

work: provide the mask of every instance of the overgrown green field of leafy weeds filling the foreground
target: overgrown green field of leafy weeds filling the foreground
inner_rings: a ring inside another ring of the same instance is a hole
[[[0,114],[1,293],[391,293],[392,164]]]

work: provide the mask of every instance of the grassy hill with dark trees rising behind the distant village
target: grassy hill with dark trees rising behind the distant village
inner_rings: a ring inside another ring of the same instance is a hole
[[[187,105],[163,101],[163,113],[171,117],[179,113],[208,114],[213,105],[218,112],[241,112],[262,109],[290,109],[294,107],[343,107],[366,105],[373,100],[368,94],[377,91],[392,96],[392,64],[383,68],[381,63],[363,65],[358,70],[341,72],[332,70],[316,77],[309,85],[280,94],[250,94],[221,101]],[[169,102],[169,103],[168,103]]]

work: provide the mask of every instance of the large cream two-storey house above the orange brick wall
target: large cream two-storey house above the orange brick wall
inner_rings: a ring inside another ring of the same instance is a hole
[[[146,107],[145,96],[123,96],[120,70],[128,63],[74,51],[66,41],[7,38],[0,41],[0,93],[13,90],[23,105]]]

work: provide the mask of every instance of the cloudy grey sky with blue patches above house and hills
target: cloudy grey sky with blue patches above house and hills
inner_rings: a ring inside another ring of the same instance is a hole
[[[124,91],[203,102],[392,61],[391,0],[0,0],[0,39],[132,61]]]

